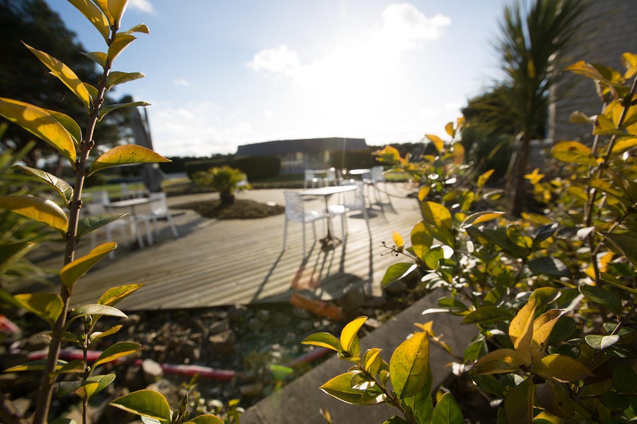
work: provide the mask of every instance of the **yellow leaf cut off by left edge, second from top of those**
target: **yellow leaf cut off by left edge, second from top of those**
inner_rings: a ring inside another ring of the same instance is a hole
[[[69,225],[66,213],[55,202],[48,199],[31,196],[0,196],[0,208],[9,209],[62,232],[66,231]]]

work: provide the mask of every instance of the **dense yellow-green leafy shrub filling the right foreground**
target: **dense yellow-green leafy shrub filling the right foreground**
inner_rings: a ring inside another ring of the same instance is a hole
[[[637,418],[637,55],[624,53],[622,64],[623,74],[585,62],[568,67],[594,80],[603,106],[595,117],[571,116],[592,127],[591,147],[559,141],[546,174],[526,175],[546,205],[543,215],[509,220],[489,210],[502,190],[486,188],[493,170],[475,178],[463,165],[464,149],[454,141],[462,118],[445,127],[450,143],[426,136],[437,155],[401,157],[389,146],[377,152],[419,183],[422,211],[410,246],[394,232],[390,249],[406,260],[387,269],[382,285],[420,272],[431,290],[445,292],[423,314],[450,313],[476,326],[461,368],[497,407],[498,423]],[[418,325],[424,331],[388,364],[376,348],[361,354],[355,334],[364,319],[340,339],[318,333],[304,341],[355,363],[321,389],[350,404],[396,407],[402,416],[387,423],[464,422],[450,394],[433,407],[429,339],[452,353],[433,322]]]

